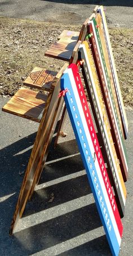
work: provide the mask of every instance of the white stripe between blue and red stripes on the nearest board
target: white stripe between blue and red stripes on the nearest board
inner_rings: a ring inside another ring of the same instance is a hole
[[[88,145],[90,146],[91,152],[95,152],[94,146],[92,144],[90,132],[88,130],[85,114],[83,113],[83,109],[82,109],[82,105],[81,105],[81,100],[79,99],[79,95],[78,95],[78,91],[77,91],[77,86],[76,86],[76,82],[75,82],[74,77],[73,77],[72,69],[68,69],[67,72],[69,74],[70,82],[71,82],[72,87],[73,87],[74,95],[76,97],[76,102],[77,102],[77,105],[78,105],[78,110],[79,110],[79,114],[80,114],[80,117],[81,117],[81,120],[82,120],[82,124],[83,124],[83,127],[85,129],[85,134],[86,134],[86,138],[87,138],[87,141],[88,141]],[[116,224],[116,219],[114,217],[113,210],[112,210],[112,207],[110,205],[110,201],[109,201],[109,198],[108,198],[107,190],[105,189],[105,184],[104,184],[104,181],[103,181],[103,177],[101,175],[101,171],[100,171],[99,163],[97,161],[97,157],[96,157],[96,160],[95,160],[95,168],[96,168],[96,171],[97,171],[97,176],[99,177],[100,185],[101,185],[102,190],[103,190],[103,195],[104,195],[104,199],[105,199],[105,202],[107,204],[107,207],[108,207],[110,218],[112,220],[114,232],[116,233],[118,244],[120,246],[120,244],[121,244],[121,236],[119,234],[118,227],[117,227],[117,224]]]

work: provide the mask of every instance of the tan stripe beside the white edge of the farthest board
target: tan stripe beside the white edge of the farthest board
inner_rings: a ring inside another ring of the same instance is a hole
[[[95,20],[96,20],[96,24],[97,24],[96,30],[99,31],[99,37],[100,37],[100,41],[101,41],[101,45],[102,45],[102,49],[103,49],[105,66],[107,68],[107,74],[108,74],[107,79],[109,79],[109,82],[110,82],[110,89],[111,89],[111,92],[112,92],[112,98],[113,98],[115,108],[116,108],[116,111],[117,111],[118,121],[119,121],[119,125],[121,127],[122,135],[124,137],[122,121],[121,121],[121,114],[119,112],[119,106],[118,106],[118,101],[117,101],[116,89],[114,87],[113,75],[112,75],[112,71],[110,69],[107,44],[105,42],[105,37],[104,37],[104,33],[103,33],[103,23],[102,23],[102,20],[101,20],[101,15],[99,13],[96,14]]]

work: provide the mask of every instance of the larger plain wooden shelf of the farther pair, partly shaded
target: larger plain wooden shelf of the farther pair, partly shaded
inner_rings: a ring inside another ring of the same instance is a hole
[[[45,56],[70,61],[76,44],[77,40],[72,40],[70,37],[62,37],[59,41],[50,46],[45,52]]]

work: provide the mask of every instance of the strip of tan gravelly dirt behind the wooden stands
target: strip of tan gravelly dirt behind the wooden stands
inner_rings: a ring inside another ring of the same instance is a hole
[[[79,25],[0,18],[0,95],[14,95],[34,66],[60,70],[64,61],[45,57],[45,52],[63,29],[79,31]],[[133,29],[109,27],[123,101],[133,105]]]

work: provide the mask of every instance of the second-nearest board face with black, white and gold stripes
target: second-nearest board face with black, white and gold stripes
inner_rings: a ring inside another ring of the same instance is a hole
[[[99,83],[97,81],[94,62],[87,41],[84,41],[79,46],[79,59],[83,60],[83,78],[85,80],[85,85],[91,103],[91,108],[94,114],[97,130],[100,133],[99,135],[101,136],[102,144],[104,144],[104,148],[106,151],[106,157],[108,159],[108,164],[110,167],[109,172],[111,171],[112,173],[112,184],[116,195],[116,202],[119,214],[121,215],[121,217],[123,217],[126,203],[126,187],[123,182],[121,169],[119,167],[119,161],[117,159],[117,154],[114,147],[112,135],[110,133],[110,127],[107,113],[105,110],[105,105],[103,104],[103,99]],[[109,172],[108,175],[110,177],[111,173]]]

